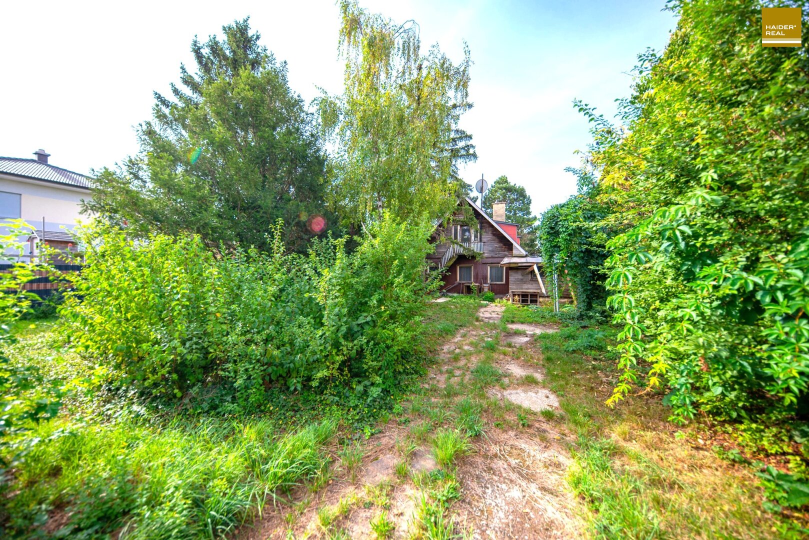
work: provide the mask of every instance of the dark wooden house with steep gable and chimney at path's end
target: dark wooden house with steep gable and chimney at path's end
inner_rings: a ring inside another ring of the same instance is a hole
[[[495,202],[493,215],[471,199],[460,202],[445,227],[435,232],[428,260],[444,269],[442,292],[469,294],[492,291],[519,304],[539,304],[548,296],[541,258],[529,257],[519,244],[516,223],[506,221],[506,203]]]

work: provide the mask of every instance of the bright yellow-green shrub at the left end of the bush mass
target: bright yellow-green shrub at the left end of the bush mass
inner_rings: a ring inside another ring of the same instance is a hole
[[[136,241],[114,227],[81,236],[87,264],[60,309],[77,350],[122,385],[182,395],[202,380],[217,338],[213,254],[197,237]]]

